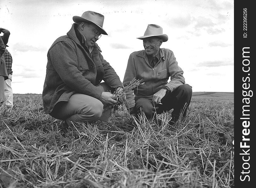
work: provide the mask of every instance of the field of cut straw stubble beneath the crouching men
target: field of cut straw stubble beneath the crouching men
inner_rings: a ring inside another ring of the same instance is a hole
[[[170,112],[131,127],[120,107],[110,123],[63,133],[43,112],[37,94],[0,107],[0,188],[234,187],[234,93],[194,92],[174,127]]]

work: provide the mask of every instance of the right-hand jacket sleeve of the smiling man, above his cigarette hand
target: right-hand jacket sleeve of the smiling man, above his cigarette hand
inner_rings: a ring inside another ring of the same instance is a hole
[[[179,67],[172,51],[168,58],[168,72],[171,77],[171,81],[169,81],[165,86],[167,86],[167,89],[172,92],[180,85],[185,84],[185,79],[183,77],[183,70]]]

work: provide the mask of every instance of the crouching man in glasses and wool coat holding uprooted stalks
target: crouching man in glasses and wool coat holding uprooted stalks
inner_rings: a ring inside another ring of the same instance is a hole
[[[73,21],[67,35],[56,39],[48,50],[43,86],[45,113],[63,120],[60,127],[97,121],[103,117],[103,105],[117,103],[109,91],[123,88],[96,43],[101,35],[107,35],[104,16],[86,11],[82,16],[74,16]]]

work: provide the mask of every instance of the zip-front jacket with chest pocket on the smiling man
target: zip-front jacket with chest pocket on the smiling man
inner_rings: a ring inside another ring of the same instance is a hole
[[[137,98],[152,99],[152,96],[161,88],[167,88],[172,92],[185,84],[183,70],[178,66],[173,52],[165,48],[160,49],[160,60],[154,68],[149,64],[145,50],[133,52],[128,60],[123,85],[127,86],[134,78],[142,79],[141,83],[145,83],[126,93],[130,108],[135,106]]]

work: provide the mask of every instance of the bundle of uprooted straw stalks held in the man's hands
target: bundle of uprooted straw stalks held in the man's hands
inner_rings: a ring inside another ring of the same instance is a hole
[[[139,85],[143,85],[145,82],[140,83],[142,81],[141,80],[136,80],[135,78],[130,81],[130,83],[125,86],[122,90],[118,90],[117,92],[115,91],[113,93],[113,98],[117,100],[117,103],[113,106],[111,106],[111,108],[115,108],[117,109],[118,106],[124,104],[126,106],[127,109],[128,108],[128,101],[126,100],[125,97],[125,93],[127,93],[128,91],[131,91],[132,89],[134,89],[135,87],[138,87]]]

